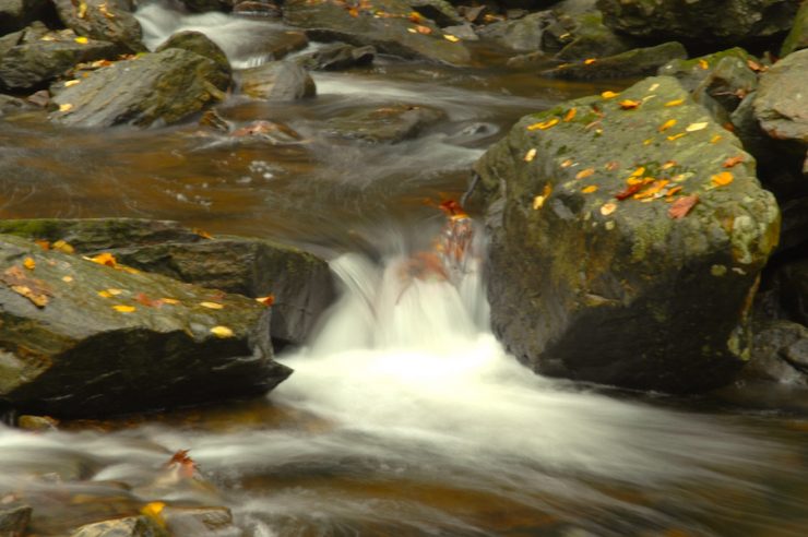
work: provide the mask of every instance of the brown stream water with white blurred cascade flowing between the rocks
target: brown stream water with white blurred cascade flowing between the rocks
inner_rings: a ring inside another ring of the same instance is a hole
[[[150,46],[203,29],[237,65],[263,61],[246,32],[277,29],[147,8]],[[223,107],[237,127],[285,122],[302,135],[289,144],[190,123],[0,123],[2,217],[175,218],[282,238],[328,255],[344,287],[309,345],[278,357],[295,373],[266,398],[40,434],[0,428],[0,497],[15,491],[35,506],[33,533],[66,535],[154,500],[227,505],[253,537],[808,532],[800,407],[534,375],[490,333],[478,255],[450,281],[406,274],[407,258],[440,231],[435,202],[463,191],[486,146],[521,115],[601,87],[384,58],[314,79],[309,102],[231,97]],[[400,103],[448,119],[397,144],[322,135],[330,118]],[[161,467],[181,449],[213,486],[166,486]]]

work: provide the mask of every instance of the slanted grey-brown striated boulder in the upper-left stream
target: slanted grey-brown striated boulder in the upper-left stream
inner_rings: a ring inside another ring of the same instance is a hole
[[[171,48],[94,71],[55,97],[56,123],[111,127],[175,123],[224,98],[229,86],[213,60]]]

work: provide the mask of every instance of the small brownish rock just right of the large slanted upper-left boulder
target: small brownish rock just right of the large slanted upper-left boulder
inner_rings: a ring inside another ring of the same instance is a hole
[[[292,61],[273,61],[238,73],[241,93],[257,99],[297,100],[317,95],[311,75]]]

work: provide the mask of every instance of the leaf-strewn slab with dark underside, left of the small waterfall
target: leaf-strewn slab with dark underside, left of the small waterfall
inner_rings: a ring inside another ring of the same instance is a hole
[[[24,413],[212,402],[264,393],[290,373],[272,360],[269,308],[247,297],[13,236],[0,240],[0,398]]]

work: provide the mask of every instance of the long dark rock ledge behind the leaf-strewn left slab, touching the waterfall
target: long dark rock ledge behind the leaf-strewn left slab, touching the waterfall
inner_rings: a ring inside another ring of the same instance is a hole
[[[302,344],[336,297],[328,263],[308,252],[270,240],[206,239],[176,222],[0,220],[0,234],[45,239],[51,244],[64,240],[84,254],[109,251],[143,271],[251,298],[272,294],[270,332],[277,347]]]

